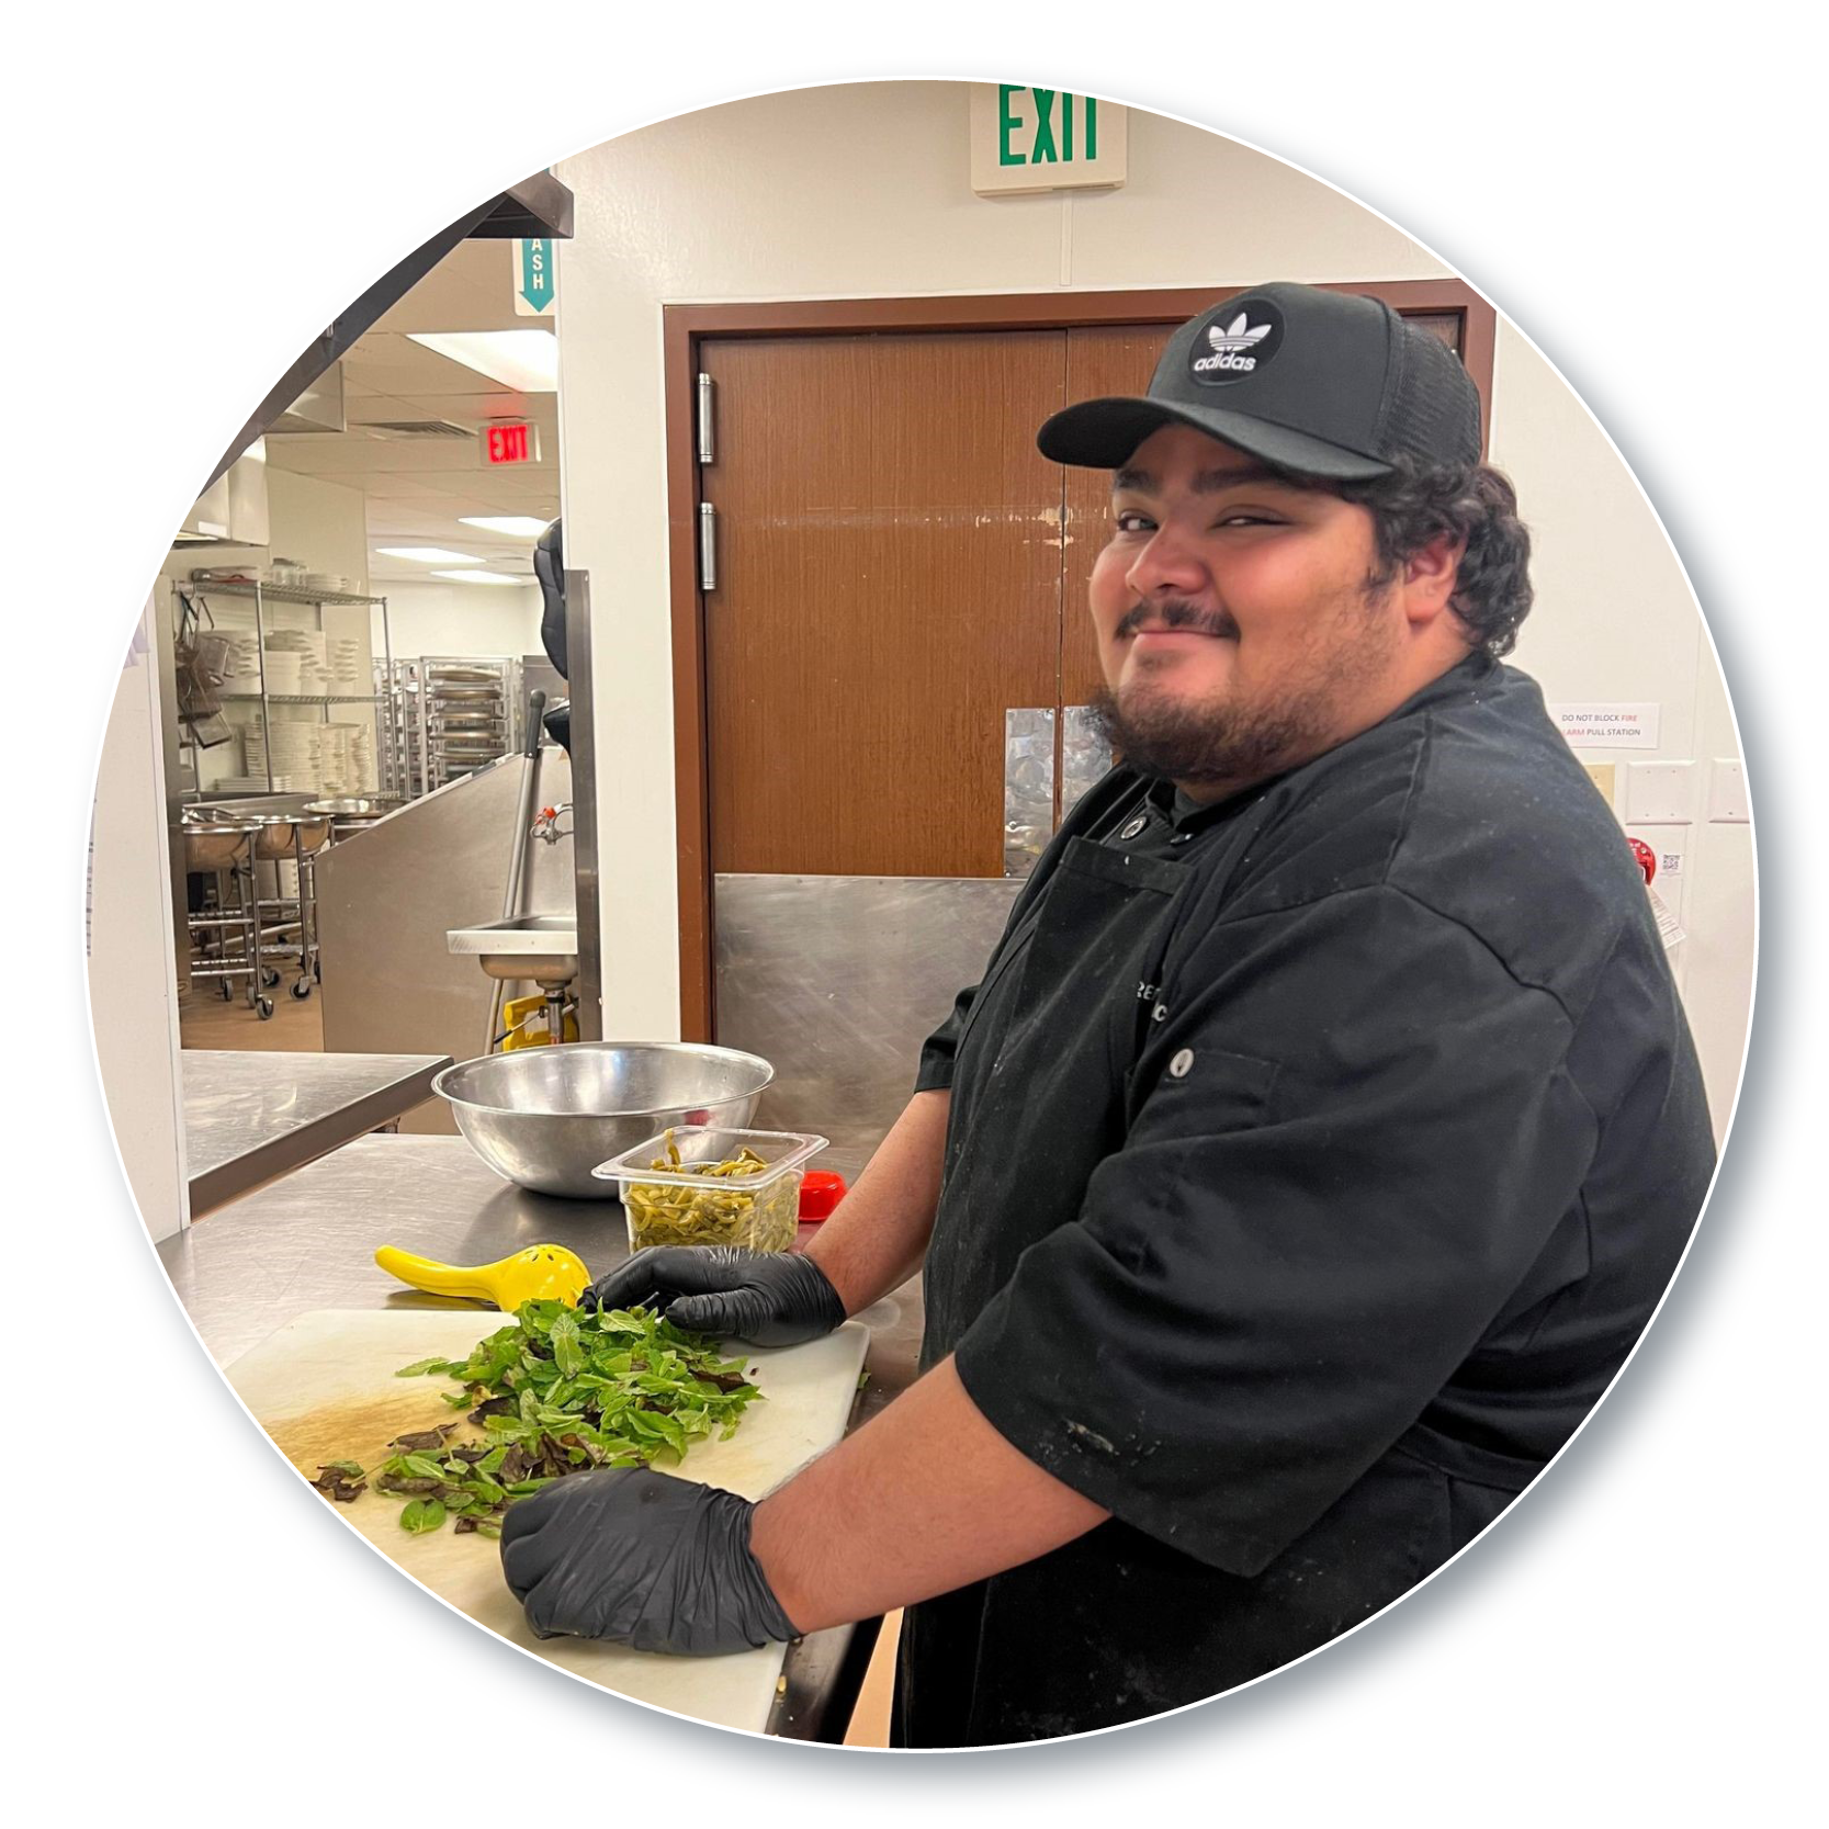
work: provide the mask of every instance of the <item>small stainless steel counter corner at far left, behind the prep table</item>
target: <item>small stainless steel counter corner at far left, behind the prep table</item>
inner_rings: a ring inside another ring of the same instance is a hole
[[[190,1216],[410,1112],[450,1064],[448,1054],[185,1050]]]

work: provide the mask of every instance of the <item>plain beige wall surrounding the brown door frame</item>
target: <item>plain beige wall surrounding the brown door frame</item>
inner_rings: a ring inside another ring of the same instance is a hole
[[[1110,194],[975,198],[966,88],[863,82],[728,102],[563,161],[560,443],[567,562],[593,574],[605,841],[673,841],[660,305],[1450,273],[1332,187],[1218,134],[1130,119]],[[1732,754],[1705,631],[1663,529],[1604,433],[1502,326],[1494,454],[1538,536],[1518,660],[1551,699],[1659,699],[1663,750]],[[1697,834],[1708,832],[1706,840]],[[1747,829],[1692,829],[1679,958],[1717,1125],[1750,995]],[[604,872],[605,1032],[679,1033],[669,871]]]

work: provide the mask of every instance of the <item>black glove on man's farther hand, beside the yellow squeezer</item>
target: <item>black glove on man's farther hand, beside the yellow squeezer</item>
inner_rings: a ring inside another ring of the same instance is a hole
[[[677,1328],[752,1346],[799,1346],[845,1319],[838,1289],[810,1258],[741,1246],[651,1246],[598,1277],[578,1306],[657,1308]]]

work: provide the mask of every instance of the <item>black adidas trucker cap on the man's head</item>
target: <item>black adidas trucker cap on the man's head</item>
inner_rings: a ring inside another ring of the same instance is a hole
[[[1143,399],[1081,401],[1035,443],[1118,470],[1156,430],[1193,426],[1308,476],[1383,476],[1401,454],[1480,461],[1480,393],[1454,351],[1379,298],[1257,285],[1183,324]]]

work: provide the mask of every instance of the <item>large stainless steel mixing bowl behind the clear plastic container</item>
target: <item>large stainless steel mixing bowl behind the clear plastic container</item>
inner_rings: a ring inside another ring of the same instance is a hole
[[[432,1081],[465,1141],[507,1182],[615,1200],[591,1171],[668,1125],[743,1128],[775,1077],[759,1055],[706,1043],[572,1041],[485,1054]]]

